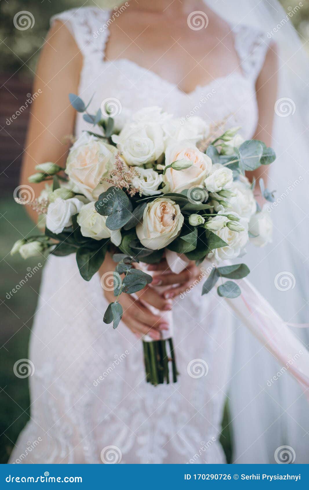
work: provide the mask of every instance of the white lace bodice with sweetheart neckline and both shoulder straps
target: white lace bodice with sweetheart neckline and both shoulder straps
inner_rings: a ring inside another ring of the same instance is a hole
[[[93,112],[102,100],[115,98],[121,104],[116,123],[145,106],[159,105],[175,116],[193,114],[214,123],[228,118],[227,126],[239,125],[245,138],[253,136],[258,121],[255,81],[267,50],[267,37],[252,27],[240,25],[233,29],[240,71],[204,86],[197,85],[186,94],[177,85],[129,59],[106,59],[112,12],[83,7],[56,15],[52,21],[55,19],[67,26],[83,54],[79,95],[85,101],[94,96],[90,105]],[[84,129],[89,129],[89,124],[78,115],[77,135]]]

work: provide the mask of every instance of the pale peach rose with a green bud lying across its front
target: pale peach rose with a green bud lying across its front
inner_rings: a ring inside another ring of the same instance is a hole
[[[167,184],[166,191],[180,193],[184,189],[189,189],[193,185],[203,184],[205,178],[209,175],[212,168],[212,161],[209,156],[199,151],[199,149],[186,142],[179,142],[166,148],[165,164],[170,165],[177,160],[188,160],[192,162],[189,169],[178,171],[167,169],[163,176]]]

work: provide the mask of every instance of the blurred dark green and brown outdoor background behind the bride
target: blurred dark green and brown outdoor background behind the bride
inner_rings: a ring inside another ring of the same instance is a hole
[[[9,298],[7,294],[20,283],[27,271],[43,263],[34,258],[24,262],[18,255],[9,255],[12,244],[30,234],[33,223],[26,215],[24,206],[14,202],[13,192],[19,185],[19,172],[23,153],[28,111],[6,124],[31,93],[31,81],[35,73],[40,48],[48,31],[49,18],[62,10],[81,5],[106,6],[111,1],[83,0],[9,0],[0,2],[0,463],[5,463],[19,432],[29,417],[28,378],[14,375],[14,363],[28,357],[28,342],[33,315],[38,299],[42,268],[22,289]],[[118,2],[120,4],[121,2]],[[285,10],[299,2],[282,0]],[[22,10],[31,12],[35,23],[31,29],[17,30],[14,15]],[[290,9],[289,9],[290,10]],[[297,28],[304,44],[309,39],[309,1],[293,15],[291,22]],[[307,43],[307,46],[309,43]],[[230,431],[226,409],[223,420],[223,443],[228,461],[231,460]]]

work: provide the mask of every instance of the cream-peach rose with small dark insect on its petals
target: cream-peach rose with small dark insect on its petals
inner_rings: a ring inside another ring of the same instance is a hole
[[[143,223],[136,227],[141,244],[151,250],[169,245],[180,233],[184,217],[178,204],[158,197],[149,202],[143,213]]]

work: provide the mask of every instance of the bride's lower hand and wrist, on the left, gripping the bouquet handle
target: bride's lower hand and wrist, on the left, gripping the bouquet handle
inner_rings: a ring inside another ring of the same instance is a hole
[[[110,285],[113,284],[113,271],[116,266],[117,263],[107,253],[99,270],[104,296],[109,303],[115,301],[114,291],[111,290]],[[171,309],[170,302],[148,286],[138,291],[136,295],[138,299],[134,299],[130,294],[120,294],[118,301],[123,309],[122,321],[138,338],[148,334],[152,339],[160,340],[160,331],[167,330],[168,323],[160,315],[154,315],[140,299],[163,311]]]

